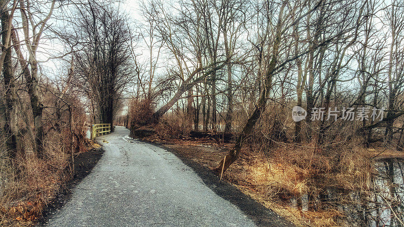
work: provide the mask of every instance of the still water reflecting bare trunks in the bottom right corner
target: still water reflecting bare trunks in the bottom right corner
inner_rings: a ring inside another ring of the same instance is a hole
[[[347,224],[355,226],[404,226],[404,162],[376,162],[377,176],[371,192],[349,192],[348,203],[339,205]]]

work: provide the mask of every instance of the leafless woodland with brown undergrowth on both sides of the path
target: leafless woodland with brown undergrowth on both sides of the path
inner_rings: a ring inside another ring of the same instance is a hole
[[[0,1],[0,207],[40,212],[89,149],[88,126],[118,124],[131,137],[232,143],[218,175],[259,153],[266,174],[290,173],[264,183],[268,197],[327,212],[349,200],[351,219],[382,225],[366,212],[382,198],[375,157],[404,146],[404,1],[124,4]],[[383,198],[402,225],[393,174]]]

